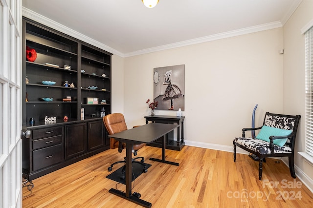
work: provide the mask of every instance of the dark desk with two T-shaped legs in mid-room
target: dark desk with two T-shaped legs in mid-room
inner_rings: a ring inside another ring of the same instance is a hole
[[[109,135],[108,137],[110,138],[114,138],[117,141],[126,143],[126,171],[125,171],[126,193],[114,188],[111,188],[109,192],[117,196],[120,196],[124,199],[127,199],[131,202],[139,204],[143,207],[150,208],[152,206],[150,202],[141,200],[138,197],[132,195],[132,146],[138,143],[149,144],[163,136],[162,159],[150,158],[150,160],[179,166],[179,163],[174,163],[165,160],[165,135],[178,127],[179,125],[174,124],[151,123]]]

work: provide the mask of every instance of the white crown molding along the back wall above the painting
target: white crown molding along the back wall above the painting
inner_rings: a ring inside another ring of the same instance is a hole
[[[231,38],[231,37],[235,37],[235,36],[246,35],[249,33],[255,33],[255,32],[260,32],[260,31],[264,31],[264,30],[275,29],[275,28],[279,28],[282,26],[283,25],[280,21],[274,21],[274,22],[270,22],[267,24],[261,24],[261,25],[256,25],[256,26],[252,26],[252,27],[246,27],[246,28],[242,28],[239,30],[233,30],[233,31],[224,32],[224,33],[218,33],[218,34],[205,36],[205,37],[201,37],[201,38],[196,38],[196,39],[191,39],[191,40],[187,40],[187,41],[176,42],[176,43],[172,43],[172,44],[161,45],[161,46],[157,46],[157,47],[153,47],[153,48],[148,48],[148,49],[144,49],[144,50],[125,53],[124,57],[131,57],[131,56],[136,56],[136,55],[141,55],[141,54],[146,54],[146,53],[152,53],[152,52],[156,52],[156,51],[178,48],[178,47],[198,44],[198,43],[202,43],[202,42],[216,41],[216,40],[220,40],[220,39],[224,39],[224,38]]]

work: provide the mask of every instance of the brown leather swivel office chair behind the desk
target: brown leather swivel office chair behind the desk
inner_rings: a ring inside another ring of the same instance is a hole
[[[105,127],[107,128],[109,134],[114,134],[114,133],[118,133],[118,132],[127,130],[127,125],[125,123],[124,116],[121,113],[112,113],[112,114],[106,115],[105,117],[103,117],[103,123],[104,123]],[[134,126],[134,127],[137,127],[137,126]],[[137,150],[142,148],[145,145],[146,145],[145,143],[135,144],[133,146],[134,156],[137,155]],[[126,144],[119,142],[113,138],[110,138],[110,148],[112,148],[112,149],[118,148],[118,152],[122,152],[122,149],[126,148]],[[141,159],[140,162],[136,161],[137,159]],[[148,171],[147,166],[144,164],[144,161],[145,161],[144,157],[132,158],[132,163],[138,163],[138,164],[142,165],[143,166],[143,172],[147,172]],[[124,158],[124,161],[117,161],[117,162],[113,163],[111,166],[108,167],[108,170],[112,171],[112,167],[118,163],[126,163],[126,158]],[[122,169],[121,178],[122,179],[125,178],[125,166]]]

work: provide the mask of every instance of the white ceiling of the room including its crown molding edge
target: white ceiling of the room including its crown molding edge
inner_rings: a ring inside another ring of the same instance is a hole
[[[122,57],[281,27],[302,0],[22,0]],[[102,47],[103,48],[103,47]]]

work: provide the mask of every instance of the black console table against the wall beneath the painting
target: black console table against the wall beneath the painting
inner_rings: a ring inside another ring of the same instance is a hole
[[[177,128],[177,141],[174,141],[174,131],[171,131],[166,136],[165,147],[167,149],[173,149],[180,151],[183,146],[185,146],[184,142],[184,116],[162,116],[162,115],[154,115],[154,116],[145,116],[146,124],[150,122],[152,123],[162,123],[162,124],[178,124]],[[179,139],[180,138],[180,139]],[[147,144],[148,146],[156,146],[162,147],[162,138],[157,139],[155,142]]]

